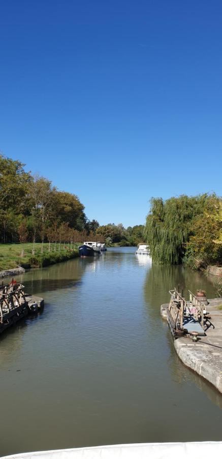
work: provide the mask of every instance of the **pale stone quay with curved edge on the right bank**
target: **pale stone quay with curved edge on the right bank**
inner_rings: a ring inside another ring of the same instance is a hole
[[[206,336],[199,337],[193,342],[190,335],[174,340],[175,350],[181,361],[200,376],[207,379],[222,393],[222,298],[209,299],[206,307],[214,325],[206,330]],[[161,305],[161,315],[167,320],[169,304]]]

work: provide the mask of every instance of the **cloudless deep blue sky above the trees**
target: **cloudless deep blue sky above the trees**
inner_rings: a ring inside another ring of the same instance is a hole
[[[2,0],[0,150],[100,224],[221,193],[221,0]]]

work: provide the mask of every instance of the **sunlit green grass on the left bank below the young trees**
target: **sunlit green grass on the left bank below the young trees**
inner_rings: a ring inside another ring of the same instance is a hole
[[[48,251],[48,242],[43,244],[43,254],[41,254],[41,247],[41,243],[35,244],[36,260],[35,263],[31,263],[35,266],[45,266],[46,264],[51,264],[51,262],[56,263],[62,261],[62,258],[65,259],[65,257],[68,255],[68,258],[73,258],[70,256],[70,253],[72,252],[68,251],[67,248],[64,250],[63,244],[61,244],[60,252],[58,251],[58,244],[56,244],[56,251],[54,251],[54,244],[51,244],[50,252]],[[75,245],[75,248],[77,248],[77,245]],[[21,244],[0,244],[0,271],[3,271],[4,269],[16,268],[18,265],[23,263],[30,263],[32,260],[31,251],[33,250],[33,243],[27,242],[24,244],[24,257],[21,257],[21,250]]]

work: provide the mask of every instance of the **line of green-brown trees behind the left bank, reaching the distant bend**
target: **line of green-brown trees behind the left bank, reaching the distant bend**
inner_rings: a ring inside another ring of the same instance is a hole
[[[89,221],[78,196],[60,191],[40,175],[24,170],[24,164],[0,154],[0,242],[36,242],[68,247],[84,240],[108,245],[137,245],[143,225],[124,228],[121,223],[100,226]]]

